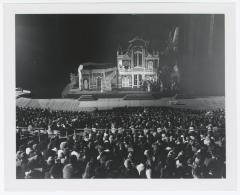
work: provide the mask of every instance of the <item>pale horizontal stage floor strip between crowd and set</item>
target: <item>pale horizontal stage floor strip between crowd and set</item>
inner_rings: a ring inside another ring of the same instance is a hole
[[[123,100],[122,98],[100,98],[96,101],[78,101],[76,99],[29,99],[18,98],[16,105],[20,107],[46,108],[51,110],[92,111],[106,110],[115,107],[148,107],[170,106],[187,109],[224,109],[224,96],[195,97],[193,99],[176,99],[167,97],[155,100]]]

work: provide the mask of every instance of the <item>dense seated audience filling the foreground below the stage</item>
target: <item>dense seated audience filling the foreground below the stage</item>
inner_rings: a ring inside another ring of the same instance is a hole
[[[124,107],[93,112],[16,108],[17,127],[72,131],[25,139],[16,177],[225,178],[225,111]]]

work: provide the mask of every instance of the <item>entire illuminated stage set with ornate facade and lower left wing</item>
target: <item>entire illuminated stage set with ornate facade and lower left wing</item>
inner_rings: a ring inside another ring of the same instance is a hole
[[[178,28],[172,32],[172,43],[177,44]],[[172,65],[170,86],[165,85],[160,66],[159,51],[149,42],[135,37],[127,49],[118,48],[117,64],[82,63],[78,72],[70,74],[70,83],[62,92],[64,98],[96,99],[154,99],[160,95],[174,95],[179,73]]]

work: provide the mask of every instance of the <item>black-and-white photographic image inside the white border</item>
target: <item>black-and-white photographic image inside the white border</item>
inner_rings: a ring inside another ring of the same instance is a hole
[[[16,14],[16,179],[225,179],[224,14]]]

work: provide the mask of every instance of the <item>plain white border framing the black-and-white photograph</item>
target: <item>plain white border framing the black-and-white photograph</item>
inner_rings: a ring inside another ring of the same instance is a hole
[[[15,14],[224,14],[226,179],[16,179]],[[237,188],[236,11],[234,3],[4,4],[4,164],[9,191],[234,190]]]

